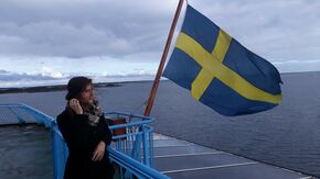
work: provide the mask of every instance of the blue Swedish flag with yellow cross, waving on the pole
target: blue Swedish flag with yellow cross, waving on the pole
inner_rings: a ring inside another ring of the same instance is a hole
[[[227,116],[266,111],[282,100],[279,71],[190,5],[162,76]]]

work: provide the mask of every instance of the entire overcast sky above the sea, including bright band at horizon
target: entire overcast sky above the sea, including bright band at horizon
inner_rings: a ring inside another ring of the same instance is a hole
[[[1,0],[0,85],[79,74],[153,78],[177,4],[178,0]],[[320,69],[319,0],[189,4],[281,72]]]

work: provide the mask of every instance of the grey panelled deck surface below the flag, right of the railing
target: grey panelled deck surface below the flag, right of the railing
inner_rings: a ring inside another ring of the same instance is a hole
[[[154,135],[156,168],[174,179],[308,179],[309,176],[244,157]]]

